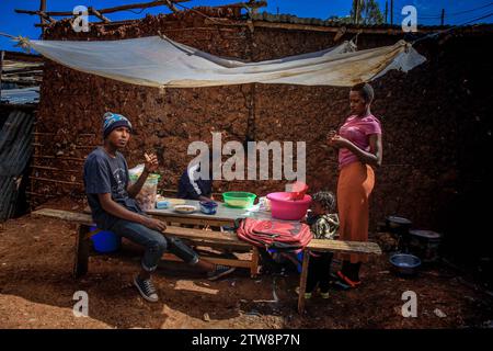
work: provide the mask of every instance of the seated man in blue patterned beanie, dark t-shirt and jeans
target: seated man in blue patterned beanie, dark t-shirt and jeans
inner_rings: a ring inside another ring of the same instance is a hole
[[[135,196],[149,173],[158,169],[158,159],[154,155],[146,155],[144,172],[130,186],[127,162],[118,151],[127,145],[130,133],[131,124],[126,117],[111,112],[104,114],[104,144],[94,149],[85,160],[84,186],[98,228],[111,230],[146,248],[140,273],[134,279],[140,295],[149,302],[158,301],[158,294],[150,278],[165,251],[207,272],[209,280],[232,272],[234,268],[216,265],[202,260],[180,239],[167,236],[167,226],[163,222],[148,217],[140,210]]]

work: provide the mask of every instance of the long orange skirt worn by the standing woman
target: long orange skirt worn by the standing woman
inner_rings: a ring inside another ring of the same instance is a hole
[[[368,165],[353,162],[341,169],[337,181],[341,240],[368,241],[368,197],[374,184],[375,172]],[[340,253],[336,257],[352,263],[367,262],[366,254]]]

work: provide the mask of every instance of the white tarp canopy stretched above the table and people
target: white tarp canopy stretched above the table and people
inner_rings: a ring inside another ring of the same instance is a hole
[[[195,88],[286,83],[351,87],[389,69],[408,71],[426,59],[410,44],[356,50],[352,42],[280,59],[244,63],[150,36],[123,41],[30,41],[43,56],[70,68],[148,87]]]

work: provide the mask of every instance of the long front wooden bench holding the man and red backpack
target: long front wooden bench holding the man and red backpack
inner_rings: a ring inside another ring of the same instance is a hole
[[[84,213],[73,213],[68,211],[43,208],[32,213],[35,216],[46,216],[62,220],[72,222],[79,225],[76,239],[76,254],[73,263],[73,276],[79,278],[88,272],[89,256],[90,256],[90,237],[100,231],[100,229],[92,230],[94,226],[91,215]],[[174,236],[181,239],[190,240],[196,245],[207,247],[226,247],[231,249],[253,250],[252,260],[238,260],[225,258],[206,258],[207,261],[217,264],[226,264],[237,268],[248,268],[252,276],[259,272],[259,251],[257,249],[240,240],[236,235],[222,231],[202,230],[194,228],[183,228],[177,226],[168,226],[167,235]],[[342,241],[342,240],[321,240],[312,239],[303,250],[303,262],[300,275],[299,296],[298,296],[298,312],[305,310],[305,292],[307,287],[308,263],[310,254],[308,251],[330,251],[342,253],[364,253],[364,254],[381,254],[380,247],[375,242],[358,242],[358,241]],[[165,253],[164,259],[180,261],[179,258],[171,253]]]

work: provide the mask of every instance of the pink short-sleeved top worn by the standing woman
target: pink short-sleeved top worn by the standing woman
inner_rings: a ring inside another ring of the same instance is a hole
[[[348,116],[339,134],[359,147],[362,150],[369,151],[369,136],[371,134],[381,134],[380,121],[372,114],[366,117]],[[358,162],[356,155],[346,148],[339,149],[339,169],[353,162]]]

